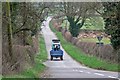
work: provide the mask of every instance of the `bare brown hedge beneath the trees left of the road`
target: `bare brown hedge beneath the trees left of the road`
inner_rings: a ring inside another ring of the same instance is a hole
[[[20,40],[20,39],[19,39]],[[3,41],[2,44],[2,74],[16,74],[24,69],[27,69],[28,66],[34,64],[35,53],[38,52],[38,39],[36,37],[32,38],[33,46],[31,45],[22,45],[15,44],[13,45],[13,55],[12,59],[9,59],[8,43]]]

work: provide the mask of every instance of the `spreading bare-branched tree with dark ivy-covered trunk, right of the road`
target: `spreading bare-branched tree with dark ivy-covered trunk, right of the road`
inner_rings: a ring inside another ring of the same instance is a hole
[[[72,36],[79,35],[80,28],[84,25],[86,18],[95,15],[96,3],[91,2],[64,2],[63,13],[70,23],[69,31]]]

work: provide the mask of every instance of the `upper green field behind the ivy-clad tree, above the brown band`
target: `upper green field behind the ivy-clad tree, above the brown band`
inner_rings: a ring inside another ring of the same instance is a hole
[[[64,20],[63,23],[61,24],[62,27],[66,26],[67,28],[69,28],[69,25],[70,24],[67,20]],[[104,30],[104,21],[103,21],[102,17],[87,18],[81,29]]]

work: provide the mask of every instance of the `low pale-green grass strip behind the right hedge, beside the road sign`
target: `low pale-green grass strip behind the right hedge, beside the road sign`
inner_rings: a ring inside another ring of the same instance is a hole
[[[80,38],[80,41],[82,42],[99,42],[97,38]],[[110,44],[110,39],[109,38],[103,38],[101,40],[104,44]]]

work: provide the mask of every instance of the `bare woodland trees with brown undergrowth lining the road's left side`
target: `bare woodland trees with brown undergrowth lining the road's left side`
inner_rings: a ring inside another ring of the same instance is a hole
[[[43,3],[2,3],[3,70],[19,71],[20,64],[26,61],[28,64],[34,63],[34,53],[38,52],[38,45],[33,43],[38,42],[37,33],[46,16],[45,10]]]

